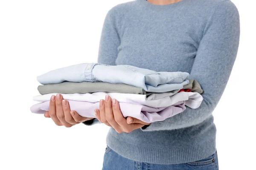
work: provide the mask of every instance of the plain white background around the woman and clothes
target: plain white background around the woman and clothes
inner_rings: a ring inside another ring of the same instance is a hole
[[[96,62],[106,13],[127,1],[0,0],[0,170],[101,170],[107,126],[58,127],[29,108],[35,104],[32,96],[38,95],[36,76]],[[241,40],[229,83],[214,111],[219,167],[253,170],[256,4],[233,3],[240,13]]]

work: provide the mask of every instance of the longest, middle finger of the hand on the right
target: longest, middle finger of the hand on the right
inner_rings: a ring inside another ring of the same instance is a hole
[[[122,133],[122,127],[118,125],[113,115],[112,99],[110,96],[105,97],[105,117],[108,123],[116,130],[118,133]]]

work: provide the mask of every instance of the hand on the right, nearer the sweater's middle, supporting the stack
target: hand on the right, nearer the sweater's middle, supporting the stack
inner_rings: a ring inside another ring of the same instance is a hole
[[[100,100],[99,109],[95,110],[95,115],[100,122],[113,127],[117,133],[130,133],[135,129],[150,124],[132,117],[125,119],[120,111],[118,101],[111,99],[108,95],[105,100]]]

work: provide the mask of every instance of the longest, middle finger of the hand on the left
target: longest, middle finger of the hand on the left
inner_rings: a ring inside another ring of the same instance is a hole
[[[56,115],[65,127],[71,127],[72,125],[65,120],[65,115],[62,107],[62,95],[57,94],[56,96]]]

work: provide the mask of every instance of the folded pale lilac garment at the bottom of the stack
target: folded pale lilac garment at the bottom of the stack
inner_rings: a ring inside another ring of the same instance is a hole
[[[80,116],[96,118],[94,109],[99,109],[99,102],[91,103],[73,100],[68,100],[68,102],[70,109],[76,111]],[[186,109],[184,101],[162,108],[151,108],[144,105],[122,102],[119,102],[119,105],[124,117],[131,116],[147,123],[163,121]],[[45,113],[49,111],[49,101],[32,105],[30,110],[32,113]]]

